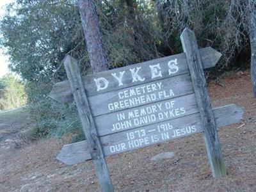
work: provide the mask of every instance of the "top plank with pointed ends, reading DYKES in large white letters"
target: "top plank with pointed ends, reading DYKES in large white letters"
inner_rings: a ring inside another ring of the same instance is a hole
[[[215,51],[211,47],[200,49],[200,55],[202,56],[202,63],[204,64],[205,68],[214,67],[217,61],[221,57],[220,52]],[[175,65],[176,59],[177,59],[177,65]],[[149,65],[154,66],[158,64],[159,64],[159,67],[158,66],[155,66],[152,68],[149,67]],[[179,69],[175,70],[176,69],[175,67],[178,67]],[[144,81],[140,81],[138,78],[136,78],[137,81],[132,82],[132,76],[131,76],[130,70],[134,69],[134,72],[136,72],[137,68],[138,68],[138,75],[141,77],[140,80],[144,78],[145,79]],[[152,70],[156,70],[154,72],[155,74],[154,77],[152,77]],[[122,85],[120,85],[116,80],[116,78],[112,75],[112,74],[115,74],[117,77],[120,77],[120,72],[124,72],[124,75],[122,78]],[[159,72],[161,72],[161,76],[159,76]],[[156,60],[129,65],[126,67],[115,68],[113,70],[99,72],[97,74],[91,74],[89,76],[84,76],[83,85],[84,85],[84,88],[86,89],[86,93],[88,97],[92,97],[93,95],[97,95],[100,93],[111,92],[114,90],[127,88],[129,86],[149,83],[152,81],[157,81],[159,79],[164,79],[166,77],[179,76],[182,74],[186,74],[188,72],[189,72],[189,68],[188,68],[188,63],[186,61],[186,56],[184,53],[181,53],[173,56],[159,58]],[[104,90],[99,90],[97,92],[97,87],[95,86],[94,79],[98,79],[100,77],[104,77],[109,84],[108,84],[108,88]],[[72,102],[73,97],[72,97],[72,93],[71,93],[70,85],[68,84],[68,81],[61,81],[59,83],[54,84],[52,91],[49,94],[49,97],[59,102]]]

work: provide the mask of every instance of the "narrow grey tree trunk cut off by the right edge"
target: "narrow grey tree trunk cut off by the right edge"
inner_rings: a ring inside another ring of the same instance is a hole
[[[256,3],[253,0],[249,1],[249,38],[251,44],[251,77],[253,84],[253,96],[256,97]]]

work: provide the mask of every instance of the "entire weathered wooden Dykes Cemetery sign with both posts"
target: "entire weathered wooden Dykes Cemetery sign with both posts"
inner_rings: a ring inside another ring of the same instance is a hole
[[[185,53],[81,77],[70,56],[68,81],[49,95],[76,101],[86,141],[65,145],[57,159],[75,164],[92,159],[102,191],[113,191],[104,157],[204,132],[213,177],[226,175],[217,129],[239,122],[243,110],[231,104],[212,109],[204,68],[220,52],[198,49],[193,31],[180,36]]]

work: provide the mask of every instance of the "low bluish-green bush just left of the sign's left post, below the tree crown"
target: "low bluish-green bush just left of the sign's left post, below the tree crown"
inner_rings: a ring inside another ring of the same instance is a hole
[[[81,130],[81,124],[74,105],[60,104],[47,97],[45,84],[29,85],[28,110],[33,126],[28,132],[29,138],[45,136],[60,138],[64,134]]]

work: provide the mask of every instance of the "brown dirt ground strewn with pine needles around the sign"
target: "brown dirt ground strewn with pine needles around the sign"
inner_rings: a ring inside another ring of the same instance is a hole
[[[222,83],[209,84],[213,106],[234,103],[245,111],[239,124],[219,132],[227,177],[211,177],[204,139],[195,134],[108,157],[116,191],[256,191],[256,99],[250,72],[232,74]],[[99,191],[92,161],[65,166],[55,159],[69,139],[1,148],[0,191]],[[173,159],[150,161],[170,151]]]

